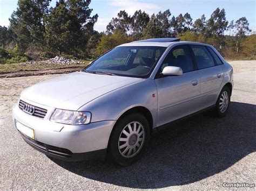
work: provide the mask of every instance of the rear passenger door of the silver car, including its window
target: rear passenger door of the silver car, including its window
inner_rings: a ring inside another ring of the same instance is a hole
[[[214,105],[224,73],[206,46],[190,45],[200,76],[200,109]]]

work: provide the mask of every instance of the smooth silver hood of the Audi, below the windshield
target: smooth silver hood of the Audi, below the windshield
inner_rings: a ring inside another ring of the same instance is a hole
[[[99,96],[140,80],[75,72],[39,82],[23,90],[21,98],[49,107],[77,110]]]

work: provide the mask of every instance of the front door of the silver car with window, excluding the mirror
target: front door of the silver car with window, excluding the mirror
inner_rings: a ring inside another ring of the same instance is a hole
[[[165,66],[183,69],[183,75],[163,76]],[[175,46],[167,54],[154,80],[158,93],[157,126],[198,111],[200,78],[187,45]]]

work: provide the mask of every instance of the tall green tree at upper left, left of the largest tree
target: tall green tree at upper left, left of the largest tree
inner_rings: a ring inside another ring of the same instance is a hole
[[[19,0],[18,8],[11,15],[10,29],[22,51],[33,44],[44,44],[45,16],[51,0]]]

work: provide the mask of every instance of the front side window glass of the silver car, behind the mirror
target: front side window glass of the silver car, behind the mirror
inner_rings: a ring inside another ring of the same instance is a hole
[[[183,72],[194,70],[193,61],[190,55],[190,50],[186,45],[176,46],[167,54],[163,61],[161,70],[166,66],[180,67]]]

